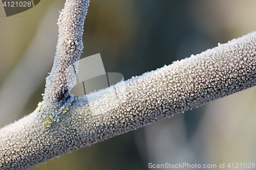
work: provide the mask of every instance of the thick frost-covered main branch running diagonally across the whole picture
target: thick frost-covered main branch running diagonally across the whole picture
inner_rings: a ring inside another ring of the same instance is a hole
[[[59,122],[49,128],[42,123],[51,121],[42,118],[46,104],[39,103],[33,113],[0,130],[0,168],[26,169],[252,87],[255,66],[253,32],[119,83],[116,90],[71,96],[56,110]]]

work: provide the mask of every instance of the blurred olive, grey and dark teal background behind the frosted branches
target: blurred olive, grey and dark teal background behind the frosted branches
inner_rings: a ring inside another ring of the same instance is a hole
[[[0,7],[0,127],[42,100],[63,0],[6,17]],[[81,58],[101,54],[124,79],[256,31],[254,0],[91,0]],[[32,169],[149,169],[148,163],[252,163],[256,88],[229,95]],[[242,168],[241,168],[242,169]]]

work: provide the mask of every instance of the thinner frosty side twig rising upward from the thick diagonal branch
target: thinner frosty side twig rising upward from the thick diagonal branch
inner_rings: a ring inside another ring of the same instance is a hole
[[[78,61],[83,48],[82,34],[89,0],[67,0],[58,19],[57,51],[46,79],[44,101],[48,107],[61,106],[75,85]],[[68,69],[69,68],[69,69]]]

